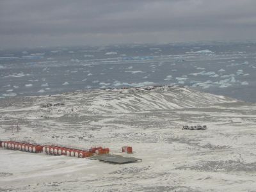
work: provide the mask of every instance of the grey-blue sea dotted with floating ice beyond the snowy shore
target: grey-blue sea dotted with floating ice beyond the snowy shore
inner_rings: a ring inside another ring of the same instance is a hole
[[[159,84],[256,102],[256,43],[0,50],[0,98]]]

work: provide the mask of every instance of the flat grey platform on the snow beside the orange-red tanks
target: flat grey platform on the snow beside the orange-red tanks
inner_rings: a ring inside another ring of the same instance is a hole
[[[89,159],[97,159],[99,161],[105,161],[108,163],[116,163],[116,164],[125,164],[125,163],[135,163],[137,161],[142,161],[142,159],[138,159],[135,157],[124,157],[120,155],[111,155],[111,154],[103,154],[98,156],[89,157]]]

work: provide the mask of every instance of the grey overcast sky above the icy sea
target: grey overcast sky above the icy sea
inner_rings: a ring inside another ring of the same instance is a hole
[[[255,0],[1,0],[0,47],[255,40]]]

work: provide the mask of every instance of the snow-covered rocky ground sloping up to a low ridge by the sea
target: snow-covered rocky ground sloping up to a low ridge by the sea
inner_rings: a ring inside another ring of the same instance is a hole
[[[142,159],[109,164],[0,148],[0,191],[255,191],[255,117],[255,103],[168,86],[0,99],[0,140],[113,154],[128,145],[134,154],[124,156]],[[197,124],[207,129],[182,130]]]

